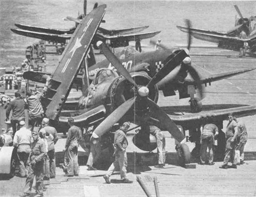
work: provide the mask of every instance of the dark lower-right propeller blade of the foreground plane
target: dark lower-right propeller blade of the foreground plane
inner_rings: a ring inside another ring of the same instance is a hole
[[[148,103],[150,106],[151,115],[153,118],[159,120],[159,126],[162,131],[169,131],[169,133],[178,141],[181,142],[185,136],[179,130],[177,125],[169,118],[167,113],[165,113],[154,101],[148,98]]]

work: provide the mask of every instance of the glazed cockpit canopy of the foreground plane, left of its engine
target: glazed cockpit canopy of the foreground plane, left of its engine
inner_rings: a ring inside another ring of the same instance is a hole
[[[117,72],[108,68],[102,68],[96,73],[93,83],[94,85],[101,84],[104,81],[108,81],[109,79],[116,77],[118,77]]]

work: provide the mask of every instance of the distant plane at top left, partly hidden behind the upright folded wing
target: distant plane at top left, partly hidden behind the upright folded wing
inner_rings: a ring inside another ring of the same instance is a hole
[[[97,7],[98,3],[94,4],[94,9]],[[70,28],[68,30],[56,30],[44,27],[35,27],[31,25],[24,24],[15,24],[19,29],[11,29],[12,32],[33,38],[38,38],[41,40],[53,42],[53,43],[63,43],[65,44],[67,40],[69,40],[74,33],[77,25],[81,22],[81,19],[86,16],[87,9],[87,1],[84,1],[84,14],[81,14],[78,18],[67,17],[68,20],[75,21],[75,27]],[[96,43],[98,41],[102,41],[108,44],[112,48],[118,47],[126,47],[129,45],[130,41],[135,41],[137,38],[140,40],[148,39],[153,36],[156,36],[161,31],[154,32],[145,32],[139,33],[149,26],[137,27],[137,28],[129,28],[129,29],[120,29],[120,30],[106,30],[104,28],[99,27],[96,35],[93,39],[93,46],[97,49]]]

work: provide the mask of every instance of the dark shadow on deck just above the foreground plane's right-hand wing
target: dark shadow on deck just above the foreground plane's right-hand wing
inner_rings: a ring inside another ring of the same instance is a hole
[[[234,107],[245,107],[248,105],[238,105],[238,104],[216,104],[216,105],[203,105],[202,111],[211,111],[218,109],[229,109]],[[164,106],[161,107],[169,115],[181,115],[180,113],[191,113],[189,105],[182,106]]]

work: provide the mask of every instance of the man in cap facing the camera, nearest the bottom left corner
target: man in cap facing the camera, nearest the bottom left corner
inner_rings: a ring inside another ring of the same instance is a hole
[[[44,187],[44,158],[45,158],[45,144],[38,136],[37,131],[32,131],[33,143],[31,144],[30,166],[26,184],[23,188],[23,197],[30,196],[34,177],[36,176],[36,193],[35,197],[42,197]]]

